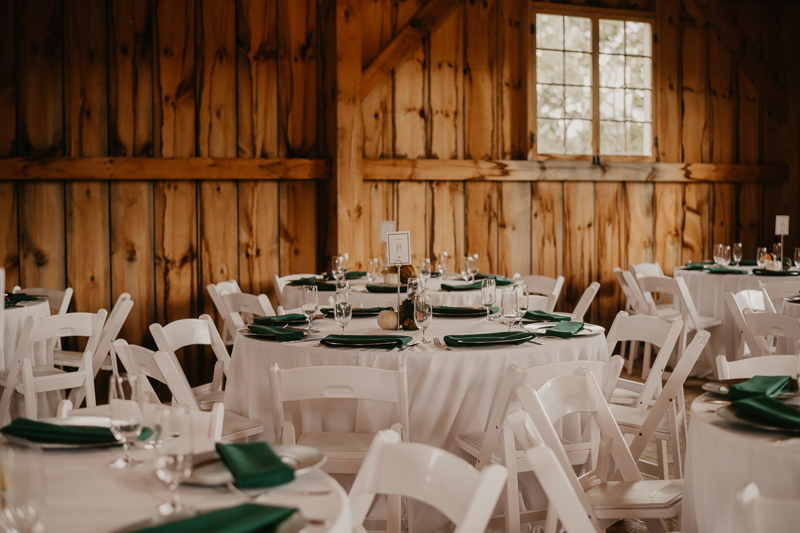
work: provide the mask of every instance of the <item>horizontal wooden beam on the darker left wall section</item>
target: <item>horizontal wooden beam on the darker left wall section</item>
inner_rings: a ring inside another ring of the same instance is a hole
[[[53,157],[0,159],[0,180],[322,180],[324,159]]]

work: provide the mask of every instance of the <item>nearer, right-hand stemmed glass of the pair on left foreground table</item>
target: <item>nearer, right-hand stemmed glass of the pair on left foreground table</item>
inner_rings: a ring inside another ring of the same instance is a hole
[[[192,474],[194,431],[192,416],[185,407],[164,407],[156,416],[156,476],[172,494],[169,502],[158,506],[162,515],[191,509],[178,497],[178,486]]]

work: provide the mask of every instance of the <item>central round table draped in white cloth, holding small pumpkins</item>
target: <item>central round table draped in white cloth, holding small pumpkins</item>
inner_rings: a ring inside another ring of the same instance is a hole
[[[408,372],[410,437],[454,451],[454,440],[462,434],[483,431],[495,389],[506,367],[512,363],[527,368],[544,363],[577,360],[608,360],[605,335],[571,339],[539,339],[542,345],[525,343],[489,348],[436,348],[433,343],[417,345],[403,351],[316,347],[326,334],[340,333],[333,319],[314,322],[322,333],[304,342],[280,344],[239,334],[233,346],[228,382],[225,387],[225,408],[264,424],[265,431],[256,438],[275,442],[272,422],[272,388],[269,368],[300,366],[352,365],[396,370],[406,365]],[[505,331],[499,322],[480,322],[478,318],[434,317],[425,338],[442,339],[445,335]],[[378,327],[375,317],[354,318],[348,334],[410,335],[419,339],[419,331],[386,331]],[[299,408],[287,412],[300,431]],[[304,431],[376,432],[399,421],[393,407],[375,402],[362,402],[356,409],[350,400],[326,400],[313,406],[319,421],[303,420]],[[369,404],[369,405],[366,405]],[[357,413],[356,413],[357,411]],[[318,429],[311,424],[317,424]]]

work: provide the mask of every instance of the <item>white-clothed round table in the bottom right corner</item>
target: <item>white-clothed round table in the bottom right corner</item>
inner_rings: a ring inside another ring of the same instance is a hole
[[[716,415],[723,405],[707,397],[692,402],[682,531],[746,533],[736,491],[748,483],[765,496],[800,500],[800,438],[727,422]]]

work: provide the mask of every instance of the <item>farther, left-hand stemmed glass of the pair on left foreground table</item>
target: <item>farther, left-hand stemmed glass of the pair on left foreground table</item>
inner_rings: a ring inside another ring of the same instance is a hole
[[[111,376],[108,386],[108,403],[111,410],[111,433],[122,443],[125,457],[112,461],[111,468],[139,466],[141,461],[131,457],[130,444],[142,434],[142,404],[144,394],[138,376],[121,374]]]

